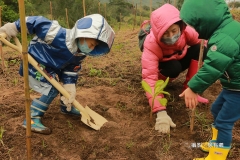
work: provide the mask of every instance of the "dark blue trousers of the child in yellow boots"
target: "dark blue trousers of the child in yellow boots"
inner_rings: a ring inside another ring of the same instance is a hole
[[[211,112],[218,129],[217,143],[230,146],[234,123],[240,119],[240,92],[223,89],[212,104]]]

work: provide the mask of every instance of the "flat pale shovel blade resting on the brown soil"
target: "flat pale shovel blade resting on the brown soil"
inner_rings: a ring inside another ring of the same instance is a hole
[[[89,117],[82,115],[81,121],[89,127],[100,130],[104,123],[108,122],[104,117],[91,110],[88,106],[84,107]]]

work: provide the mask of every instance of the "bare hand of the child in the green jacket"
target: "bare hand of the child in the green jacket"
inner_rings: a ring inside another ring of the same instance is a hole
[[[185,104],[189,109],[193,109],[197,106],[197,96],[198,94],[194,93],[190,88],[187,88],[179,95],[179,97],[185,97]]]

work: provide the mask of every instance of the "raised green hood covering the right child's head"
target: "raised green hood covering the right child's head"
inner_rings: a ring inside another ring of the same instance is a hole
[[[200,39],[209,39],[217,28],[232,21],[224,0],[184,0],[180,18],[198,32]]]

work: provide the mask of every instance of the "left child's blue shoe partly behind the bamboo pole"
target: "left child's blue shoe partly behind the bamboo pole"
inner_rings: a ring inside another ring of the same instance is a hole
[[[23,121],[22,126],[24,128],[27,128],[27,121],[26,119]],[[31,131],[36,132],[36,133],[41,133],[41,134],[51,134],[52,131],[50,128],[45,127],[40,118],[32,118],[31,119]]]

